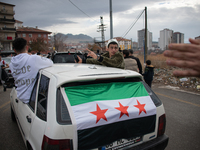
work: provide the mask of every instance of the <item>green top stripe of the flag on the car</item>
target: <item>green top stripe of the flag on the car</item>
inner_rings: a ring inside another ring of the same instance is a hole
[[[112,82],[65,87],[71,106],[103,100],[149,96],[142,82]]]

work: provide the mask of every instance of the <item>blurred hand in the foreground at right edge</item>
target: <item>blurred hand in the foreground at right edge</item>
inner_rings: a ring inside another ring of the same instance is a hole
[[[169,44],[164,52],[169,66],[183,68],[173,74],[180,77],[200,77],[200,39],[189,39],[190,44]]]

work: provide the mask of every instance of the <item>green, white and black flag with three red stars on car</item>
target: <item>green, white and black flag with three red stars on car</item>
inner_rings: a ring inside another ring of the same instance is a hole
[[[142,82],[65,87],[78,132],[78,148],[91,149],[154,132],[156,106]]]

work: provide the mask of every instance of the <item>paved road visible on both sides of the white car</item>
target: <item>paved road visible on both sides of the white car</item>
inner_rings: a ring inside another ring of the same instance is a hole
[[[153,86],[167,117],[166,150],[200,149],[200,95]],[[10,118],[9,93],[0,86],[0,150],[25,150],[20,131]]]

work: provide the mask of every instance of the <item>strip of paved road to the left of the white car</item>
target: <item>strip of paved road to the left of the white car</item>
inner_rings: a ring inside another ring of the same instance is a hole
[[[0,150],[26,150],[18,126],[11,120],[10,91],[3,92],[0,86]]]

